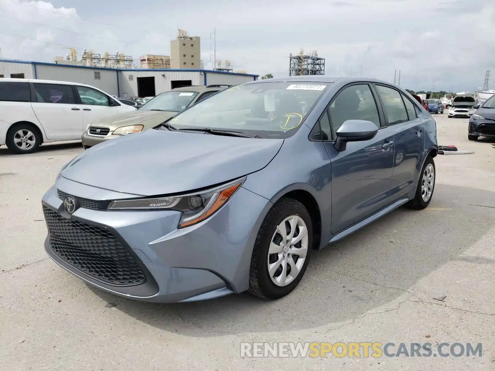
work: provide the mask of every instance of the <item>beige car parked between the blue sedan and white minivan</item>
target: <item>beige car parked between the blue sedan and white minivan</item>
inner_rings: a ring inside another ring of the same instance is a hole
[[[221,89],[221,85],[189,86],[158,94],[139,107],[138,111],[104,117],[92,122],[82,135],[83,147],[90,148],[108,139],[139,133],[175,116],[211,94]]]

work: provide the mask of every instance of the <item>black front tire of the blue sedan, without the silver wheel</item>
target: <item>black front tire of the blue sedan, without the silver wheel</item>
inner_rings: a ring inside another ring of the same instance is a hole
[[[299,274],[296,278],[286,286],[278,286],[272,282],[272,279],[268,273],[268,250],[272,237],[277,230],[278,225],[287,217],[297,215],[306,224],[308,232],[308,246],[306,259],[303,262],[302,267],[299,270]],[[248,291],[260,298],[273,300],[279,299],[292,290],[294,290],[304,276],[306,267],[309,262],[309,257],[313,243],[313,228],[311,224],[311,217],[308,211],[299,201],[292,198],[281,198],[266,215],[258,235],[254,242],[254,247],[251,255],[251,265],[249,270],[249,289]]]

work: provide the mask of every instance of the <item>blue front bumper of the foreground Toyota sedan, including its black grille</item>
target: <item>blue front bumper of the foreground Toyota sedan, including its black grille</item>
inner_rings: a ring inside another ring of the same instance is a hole
[[[65,212],[57,188],[82,198],[72,215]],[[178,211],[86,208],[92,207],[86,201],[95,200],[96,194],[97,200],[130,197],[59,177],[42,200],[49,229],[45,249],[73,275],[116,295],[161,303],[247,290],[254,239],[271,207],[267,199],[240,187],[213,216],[178,230]],[[76,227],[60,232],[50,218]]]

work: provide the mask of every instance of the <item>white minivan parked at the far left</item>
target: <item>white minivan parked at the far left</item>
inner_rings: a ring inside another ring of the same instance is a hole
[[[93,121],[134,110],[89,85],[2,78],[0,145],[14,153],[31,153],[42,143],[81,140]]]

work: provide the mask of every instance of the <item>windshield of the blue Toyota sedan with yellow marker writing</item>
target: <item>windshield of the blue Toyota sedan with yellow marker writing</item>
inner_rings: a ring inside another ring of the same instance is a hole
[[[328,83],[259,82],[216,93],[168,121],[177,129],[220,129],[287,138],[328,90]],[[148,103],[149,104],[149,103]]]

